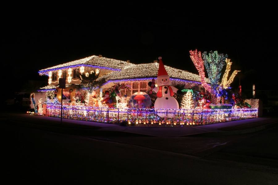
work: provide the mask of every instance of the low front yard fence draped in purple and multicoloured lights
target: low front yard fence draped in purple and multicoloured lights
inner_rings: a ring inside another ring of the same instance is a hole
[[[48,104],[46,115],[61,117],[61,105]],[[105,123],[128,121],[130,125],[204,125],[258,117],[258,109],[108,109],[63,105],[62,116]]]

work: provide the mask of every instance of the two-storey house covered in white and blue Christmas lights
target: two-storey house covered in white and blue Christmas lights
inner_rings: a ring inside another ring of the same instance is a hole
[[[197,74],[187,72],[181,69],[172,68],[165,65],[165,68],[171,78],[172,85],[200,85],[200,77]],[[80,84],[78,78],[79,72],[82,74],[95,71],[99,73],[98,79],[105,79],[105,83],[97,90],[97,93],[103,93],[105,89],[115,85],[114,83],[126,83],[130,90],[126,91],[127,99],[135,92],[146,92],[148,82],[157,78],[158,62],[148,64],[132,64],[129,61],[121,61],[102,57],[101,55],[92,55],[83,59],[74,60],[65,64],[56,65],[39,71],[40,75],[48,76],[48,86],[42,87],[38,92],[57,91],[57,99],[61,101],[61,89],[58,87],[59,78],[66,78],[66,89],[63,94],[67,101],[73,101],[77,96],[85,97],[84,92],[78,92],[75,84]],[[209,82],[208,79],[206,79]],[[101,94],[102,95],[102,94]]]

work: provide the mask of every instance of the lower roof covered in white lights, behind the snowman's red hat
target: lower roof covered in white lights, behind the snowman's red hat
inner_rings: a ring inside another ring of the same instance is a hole
[[[132,78],[146,78],[146,77],[157,77],[158,74],[158,63],[149,63],[149,64],[130,64],[124,67],[121,71],[114,71],[103,75],[100,77],[105,78],[106,80],[117,80],[117,79],[132,79]],[[165,66],[165,69],[170,76],[170,78],[177,78],[182,80],[190,80],[200,82],[200,76],[187,72],[184,70],[172,68]],[[205,79],[209,83],[209,79]]]

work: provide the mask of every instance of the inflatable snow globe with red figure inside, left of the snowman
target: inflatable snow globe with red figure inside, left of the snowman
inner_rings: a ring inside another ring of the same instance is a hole
[[[146,108],[152,105],[150,96],[145,92],[135,92],[128,101],[129,108]]]

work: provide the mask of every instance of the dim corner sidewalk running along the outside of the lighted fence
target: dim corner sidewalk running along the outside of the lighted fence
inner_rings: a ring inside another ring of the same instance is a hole
[[[30,121],[37,124],[38,120],[46,124],[51,124],[55,127],[70,127],[72,129],[86,129],[94,131],[108,131],[117,133],[132,133],[147,136],[158,136],[158,137],[179,137],[189,136],[196,134],[205,135],[230,135],[230,134],[244,134],[263,130],[267,126],[278,125],[278,118],[252,118],[238,121],[229,121],[222,123],[214,123],[209,125],[191,126],[191,127],[163,127],[163,126],[120,126],[116,124],[98,123],[92,121],[81,121],[63,119],[63,124],[60,123],[60,118],[47,117],[47,116],[31,116],[27,114],[16,114],[16,116],[8,118],[9,120],[22,121],[30,119]]]

